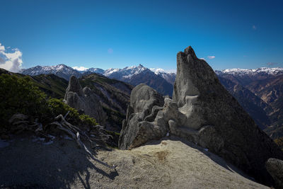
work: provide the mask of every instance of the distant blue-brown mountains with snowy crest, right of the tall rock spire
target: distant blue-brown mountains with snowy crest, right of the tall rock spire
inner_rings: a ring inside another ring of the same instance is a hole
[[[273,139],[283,137],[283,68],[215,72],[262,130]]]

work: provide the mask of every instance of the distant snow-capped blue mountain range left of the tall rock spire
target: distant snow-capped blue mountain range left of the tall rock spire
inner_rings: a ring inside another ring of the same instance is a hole
[[[159,93],[172,96],[175,74],[160,71],[162,70],[155,72],[151,71],[150,69],[143,67],[141,64],[139,64],[139,66],[125,67],[124,69],[110,68],[103,70],[99,68],[90,68],[84,71],[79,71],[64,64],[59,64],[57,66],[37,66],[28,69],[22,69],[20,73],[30,76],[39,74],[55,74],[66,80],[69,80],[71,75],[79,78],[81,76],[96,73],[107,76],[110,79],[125,81],[133,86],[144,83],[152,88],[155,88]]]

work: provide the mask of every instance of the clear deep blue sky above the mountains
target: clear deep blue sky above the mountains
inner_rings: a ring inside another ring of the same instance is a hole
[[[283,67],[282,7],[283,1],[1,0],[0,67],[171,70],[189,45],[214,69]]]

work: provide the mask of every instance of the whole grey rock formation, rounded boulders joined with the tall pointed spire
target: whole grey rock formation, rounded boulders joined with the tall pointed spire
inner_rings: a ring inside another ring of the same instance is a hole
[[[149,86],[136,86],[123,122],[119,146],[132,149],[151,139],[175,135],[230,161],[261,183],[271,184],[269,158],[283,159],[277,145],[221,85],[192,47],[177,55],[173,99]]]

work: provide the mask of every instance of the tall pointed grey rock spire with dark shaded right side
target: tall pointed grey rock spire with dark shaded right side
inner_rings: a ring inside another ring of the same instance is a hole
[[[211,134],[206,134],[200,143],[207,141],[204,146],[208,144],[209,150],[251,173],[259,181],[270,182],[265,161],[270,157],[283,159],[282,151],[220,84],[207,62],[196,57],[192,47],[177,55],[173,101],[192,122],[188,127],[199,129],[212,125],[214,128],[208,132],[216,134],[219,139],[209,142]]]

